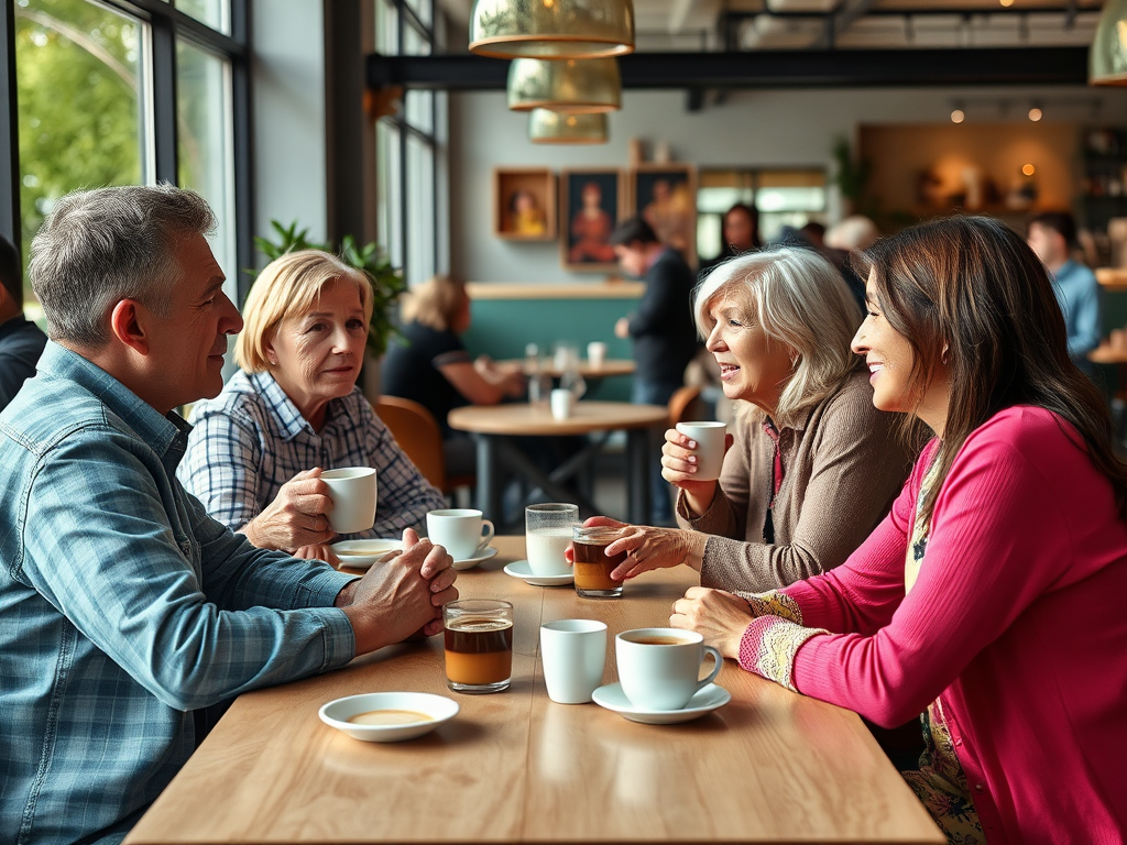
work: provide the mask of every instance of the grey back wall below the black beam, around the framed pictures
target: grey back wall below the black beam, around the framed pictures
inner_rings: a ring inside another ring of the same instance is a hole
[[[1122,123],[1127,91],[1091,88],[1046,89],[863,89],[739,91],[722,105],[685,110],[682,91],[623,92],[621,112],[611,115],[611,140],[598,146],[541,146],[527,141],[527,117],[509,112],[504,92],[452,95],[450,125],[452,270],[479,282],[561,282],[593,278],[560,267],[556,243],[503,241],[492,234],[492,168],[539,166],[553,170],[627,166],[631,137],[665,141],[673,157],[700,167],[815,166],[833,172],[829,148],[837,135],[855,136],[859,124],[935,123],[947,119],[951,101],[1010,98],[1028,104],[1070,96],[1104,103],[1093,118],[1090,105],[1063,107],[1063,121]],[[1023,109],[1014,106],[1013,114]],[[1054,109],[1046,106],[1046,121]],[[996,119],[996,118],[995,118]],[[837,214],[832,195],[829,217]],[[598,278],[595,276],[594,278]]]

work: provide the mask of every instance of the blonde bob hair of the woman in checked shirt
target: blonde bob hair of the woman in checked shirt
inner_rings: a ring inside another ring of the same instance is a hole
[[[248,373],[269,368],[266,344],[284,320],[304,314],[321,299],[330,282],[348,281],[360,292],[364,322],[372,319],[372,282],[363,270],[349,267],[319,249],[299,249],[275,258],[258,274],[242,306],[242,331],[234,344],[234,361]]]

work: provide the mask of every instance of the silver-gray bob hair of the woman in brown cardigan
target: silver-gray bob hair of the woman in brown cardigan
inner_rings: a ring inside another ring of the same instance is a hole
[[[716,327],[713,305],[726,302],[745,324],[763,328],[767,343],[789,347],[793,370],[773,421],[795,425],[862,366],[850,344],[861,309],[845,279],[817,252],[779,247],[733,258],[696,288],[693,315],[701,337]]]

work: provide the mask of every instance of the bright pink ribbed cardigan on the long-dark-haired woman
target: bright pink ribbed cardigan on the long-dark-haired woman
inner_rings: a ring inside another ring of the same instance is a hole
[[[1121,843],[1127,524],[1110,484],[1056,415],[999,412],[943,481],[905,597],[937,447],[843,566],[751,601],[765,615],[740,665],[885,726],[939,697],[991,845]]]

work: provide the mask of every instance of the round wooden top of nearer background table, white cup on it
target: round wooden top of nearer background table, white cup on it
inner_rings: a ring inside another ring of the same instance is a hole
[[[455,408],[446,421],[451,428],[478,434],[571,435],[618,428],[667,425],[669,412],[659,404],[631,402],[575,403],[568,419],[556,419],[547,404],[490,404]]]

